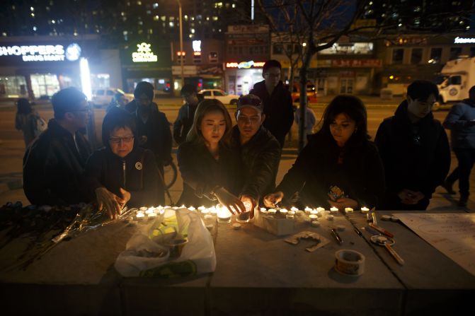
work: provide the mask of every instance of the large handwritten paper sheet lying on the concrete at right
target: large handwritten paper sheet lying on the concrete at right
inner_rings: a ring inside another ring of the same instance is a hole
[[[475,276],[474,213],[395,213],[394,216]]]

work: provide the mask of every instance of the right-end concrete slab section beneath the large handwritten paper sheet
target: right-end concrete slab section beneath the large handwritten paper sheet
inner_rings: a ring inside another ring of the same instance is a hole
[[[475,315],[473,295],[475,276],[460,267],[442,252],[420,238],[403,223],[382,221],[381,216],[404,211],[377,211],[378,226],[394,234],[393,248],[405,260],[399,265],[384,248],[370,242],[370,234],[362,230],[365,240],[387,264],[389,270],[406,288],[404,315]],[[459,212],[459,211],[454,211]],[[436,213],[430,211],[428,213]],[[440,212],[442,213],[442,212]],[[443,213],[448,213],[444,211]],[[367,226],[366,217],[361,213],[349,216],[355,226]]]

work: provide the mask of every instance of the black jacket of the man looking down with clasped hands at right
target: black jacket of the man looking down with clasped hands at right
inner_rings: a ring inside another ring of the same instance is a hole
[[[450,168],[449,141],[442,124],[432,112],[411,124],[407,107],[404,101],[393,117],[384,119],[374,139],[386,172],[384,209],[425,209]],[[420,191],[425,198],[416,206],[406,206],[397,196],[402,189]]]

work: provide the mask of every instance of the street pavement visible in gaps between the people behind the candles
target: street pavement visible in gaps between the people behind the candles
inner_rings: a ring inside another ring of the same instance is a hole
[[[376,134],[379,124],[385,117],[393,115],[394,110],[396,110],[396,105],[399,104],[400,100],[394,99],[392,103],[386,102],[384,105],[380,104],[379,98],[362,98],[365,104],[367,105],[368,112],[368,131],[370,136],[374,137]],[[321,116],[324,111],[324,102],[331,100],[331,97],[321,100],[321,103],[316,105],[311,105],[312,110],[314,110],[318,120],[321,119]],[[173,98],[166,99],[163,103],[159,104],[159,109],[166,114],[168,121],[173,123],[178,115],[178,108],[181,104],[181,99]],[[51,105],[37,105],[37,110],[40,113],[41,117],[45,120],[52,118],[52,108]],[[229,106],[229,112],[231,117],[234,117],[235,107]],[[96,126],[96,139],[100,143],[101,139],[101,124],[103,117],[105,115],[104,109],[94,108],[94,118]],[[7,201],[22,201],[23,204],[28,204],[28,200],[25,199],[23,194],[23,189],[21,187],[21,177],[22,177],[22,163],[23,163],[23,153],[25,151],[25,146],[23,144],[23,136],[21,131],[16,131],[14,128],[14,118],[15,118],[16,109],[8,104],[0,105],[0,204],[3,205]],[[434,115],[440,121],[445,119],[447,115],[447,110],[440,110],[434,112]],[[233,119],[234,120],[234,119]],[[277,174],[277,183],[282,180],[282,177],[285,175],[285,172],[292,166],[295,158],[297,157],[297,125],[294,124],[292,127],[292,139],[290,141],[287,138],[286,146],[282,153],[282,159],[280,162],[279,172]],[[173,147],[173,157],[176,162],[176,146]],[[457,165],[457,160],[452,153],[452,167],[451,170]],[[471,177],[471,187],[474,187],[474,176]],[[180,197],[182,189],[182,181],[180,175],[178,175],[178,180],[175,185],[170,190],[171,197],[173,201],[177,201]],[[457,182],[454,186],[454,189],[457,191]],[[438,194],[438,195],[437,195]],[[433,205],[431,202],[430,206],[440,208],[440,207],[449,207],[455,204],[455,200],[458,195],[453,196],[453,199],[447,199],[449,196],[443,194],[443,189],[437,189],[435,194],[437,197],[442,199],[433,199],[436,205]],[[471,206],[471,202],[469,203]]]

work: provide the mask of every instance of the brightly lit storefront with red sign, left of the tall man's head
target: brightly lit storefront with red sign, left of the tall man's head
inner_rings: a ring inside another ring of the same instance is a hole
[[[225,81],[229,94],[246,95],[255,83],[263,81],[262,67],[265,61],[226,62]]]

